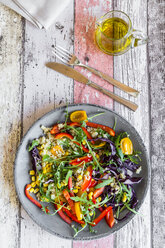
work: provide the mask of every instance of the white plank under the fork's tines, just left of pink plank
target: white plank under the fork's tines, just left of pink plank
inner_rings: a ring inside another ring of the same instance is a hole
[[[36,29],[30,23],[25,25],[25,66],[24,66],[24,133],[32,123],[46,112],[73,102],[73,80],[47,69],[45,63],[55,61],[52,45],[60,44],[73,50],[73,1],[47,31]],[[47,233],[38,227],[21,209],[20,247],[29,248],[70,248],[72,242]],[[30,237],[30,238],[29,238]]]

